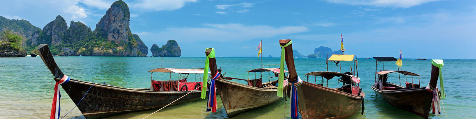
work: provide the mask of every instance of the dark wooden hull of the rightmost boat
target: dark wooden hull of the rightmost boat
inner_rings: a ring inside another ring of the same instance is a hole
[[[375,88],[376,84],[372,86],[375,94],[399,109],[403,109],[418,116],[428,119],[430,113],[433,94],[425,88],[415,89],[398,89],[398,90],[380,90]]]

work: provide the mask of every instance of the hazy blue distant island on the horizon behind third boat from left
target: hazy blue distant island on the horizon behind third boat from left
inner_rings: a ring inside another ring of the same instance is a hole
[[[342,54],[342,52],[340,50],[332,51],[328,47],[320,46],[319,48],[314,49],[313,54],[304,56],[301,53],[297,52],[297,50],[293,50],[293,56],[296,58],[327,58],[333,54]]]

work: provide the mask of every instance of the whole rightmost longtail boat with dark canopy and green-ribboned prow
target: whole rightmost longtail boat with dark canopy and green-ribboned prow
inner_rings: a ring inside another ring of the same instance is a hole
[[[376,59],[376,71],[378,61],[397,61],[397,59],[393,57],[374,58]],[[438,75],[440,74],[439,67],[437,66],[440,64],[443,66],[443,60],[432,60],[431,78],[427,87],[420,87],[420,75],[416,73],[403,70],[385,70],[384,67],[384,70],[375,73],[375,84],[372,85],[372,89],[377,94],[377,97],[386,103],[414,113],[424,119],[428,119],[428,115],[432,109],[432,104],[434,104],[433,102],[436,101],[435,99],[439,100],[441,98],[439,96],[439,91],[437,89],[434,91]],[[387,82],[389,73],[398,73],[400,85]],[[401,85],[402,79],[400,79],[400,74],[405,76],[405,86]],[[408,76],[411,77],[411,81],[407,80]],[[413,82],[414,76],[418,77],[418,84]],[[443,83],[441,82],[441,84]],[[439,103],[437,103],[437,105],[437,107],[439,107]]]

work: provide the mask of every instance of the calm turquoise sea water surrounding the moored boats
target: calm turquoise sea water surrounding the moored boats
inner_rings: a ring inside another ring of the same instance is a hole
[[[102,59],[101,59],[102,58]],[[149,88],[150,69],[159,68],[161,58],[149,57],[55,57],[60,69],[72,79],[103,83],[125,88]],[[205,58],[179,57],[164,58],[164,68],[202,68]],[[217,58],[218,67],[227,72],[225,76],[247,79],[247,70],[260,67],[258,58]],[[445,81],[446,99],[443,99],[444,110],[448,119],[475,119],[476,118],[476,60],[444,60],[443,79]],[[279,58],[264,58],[263,64],[278,64]],[[312,71],[325,71],[325,59],[295,59],[298,75],[304,79],[304,74]],[[418,119],[419,117],[401,109],[397,109],[382,100],[377,99],[370,86],[374,83],[376,71],[375,60],[358,59],[360,86],[366,94],[365,114],[358,111],[350,119]],[[342,71],[347,71],[350,62],[342,64]],[[403,60],[403,69],[422,75],[421,86],[426,86],[431,71],[431,60]],[[382,65],[379,65],[381,69]],[[396,70],[395,63],[387,62],[387,69]],[[329,62],[329,69],[336,70]],[[265,75],[267,75],[265,73]],[[254,74],[249,74],[253,79]],[[172,75],[172,79],[177,75]],[[258,76],[259,77],[259,76]],[[266,76],[264,76],[266,77]],[[51,101],[55,82],[50,71],[40,58],[0,58],[0,119],[31,118],[45,119],[50,116]],[[168,80],[167,73],[154,73],[156,80]],[[193,81],[195,75],[190,75],[188,81]],[[393,79],[391,79],[393,78]],[[398,84],[398,75],[390,75],[389,81]],[[401,77],[404,83],[404,77]],[[198,80],[198,79],[197,79]],[[306,79],[307,80],[307,79]],[[314,82],[314,78],[310,78]],[[417,82],[414,77],[414,82]],[[245,81],[238,80],[240,83]],[[320,83],[320,78],[317,79]],[[410,77],[408,77],[410,82]],[[337,88],[336,79],[329,80],[329,87]],[[438,83],[439,85],[439,83]],[[74,107],[74,103],[61,89],[61,116]],[[466,96],[466,97],[465,97]],[[468,97],[469,96],[469,97]],[[471,98],[472,96],[472,98]],[[219,98],[218,98],[219,99]],[[220,100],[218,100],[220,101]],[[288,101],[289,103],[289,101]],[[155,113],[149,119],[223,119],[228,118],[225,110],[218,102],[216,113],[205,112],[206,100],[200,99],[169,106]],[[286,106],[286,107],[285,107]],[[288,117],[289,105],[282,100],[278,103],[242,113],[233,119],[283,119]],[[156,109],[120,114],[108,119],[142,119]],[[442,115],[430,114],[430,119],[445,119]],[[286,113],[285,113],[286,111]],[[66,118],[83,119],[79,109],[75,108]]]

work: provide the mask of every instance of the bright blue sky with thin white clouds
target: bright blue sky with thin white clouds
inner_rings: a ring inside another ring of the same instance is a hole
[[[57,15],[95,29],[115,0],[1,0],[0,16],[43,28]],[[130,29],[149,47],[176,40],[182,57],[279,57],[319,46],[358,58],[476,59],[476,0],[124,0]],[[149,51],[149,56],[152,55]]]

